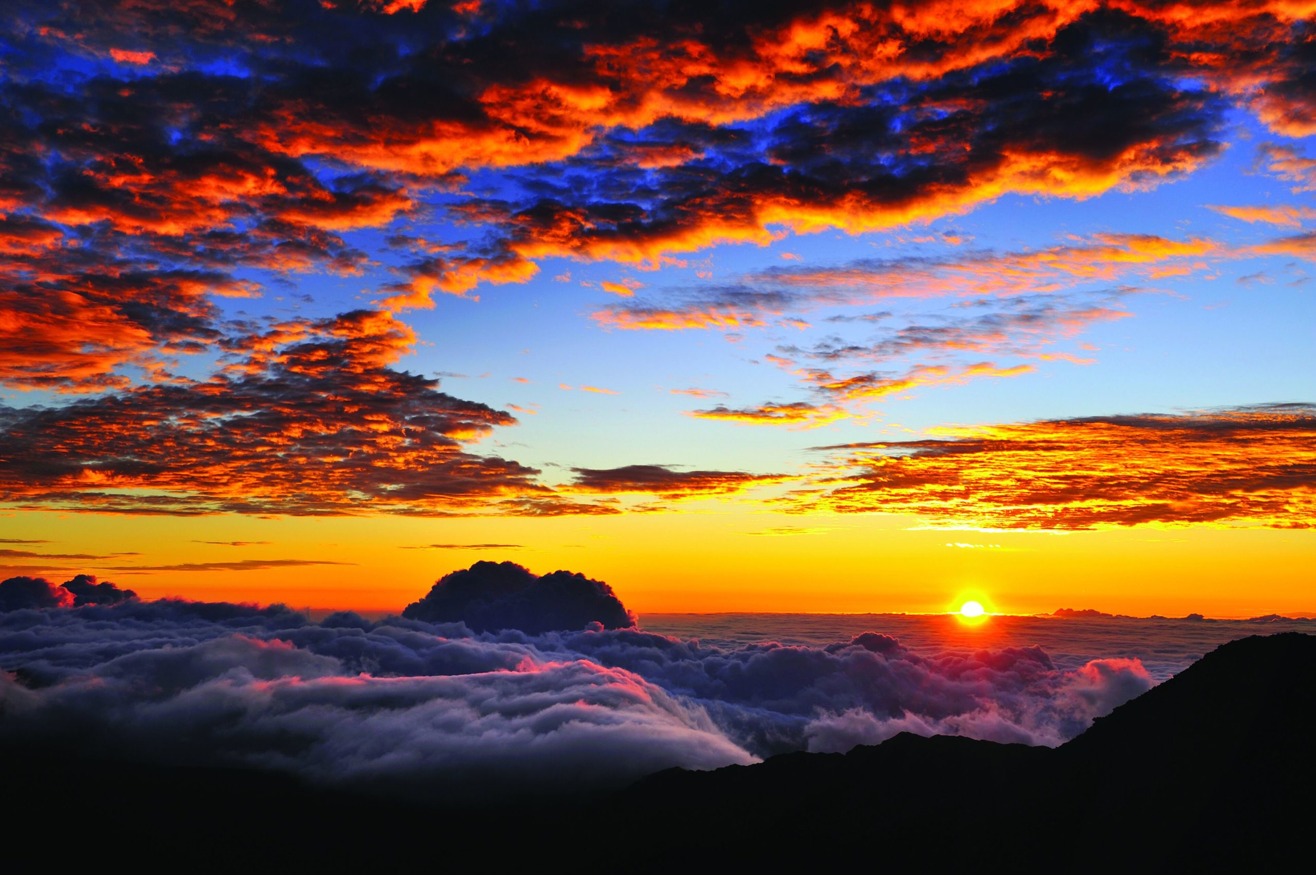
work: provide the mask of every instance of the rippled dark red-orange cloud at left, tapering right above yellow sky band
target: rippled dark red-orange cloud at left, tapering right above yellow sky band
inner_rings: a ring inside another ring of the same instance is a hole
[[[0,500],[170,514],[586,509],[536,468],[467,451],[516,420],[396,370],[413,343],[379,311],[292,320],[226,338],[209,379],[59,408],[0,405]]]

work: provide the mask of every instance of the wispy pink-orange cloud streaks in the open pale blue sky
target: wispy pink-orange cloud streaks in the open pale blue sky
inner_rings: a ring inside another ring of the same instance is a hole
[[[800,379],[812,399],[761,405],[719,404],[694,411],[699,418],[749,424],[813,426],[857,416],[855,408],[928,386],[976,378],[1016,376],[1038,366],[998,364],[982,357],[1008,355],[1036,362],[1095,359],[1061,349],[1100,322],[1129,317],[1126,299],[1137,289],[1111,283],[1152,282],[1207,267],[1223,254],[1213,241],[1173,241],[1154,236],[1103,234],[1080,245],[1037,251],[954,253],[944,258],[862,259],[841,267],[771,268],[744,286],[680,291],[658,307],[650,301],[594,313],[609,328],[765,328],[791,312],[869,307],[890,295],[951,297],[944,313],[907,317],[865,341],[828,336],[811,346],[780,345],[763,361]],[[794,317],[791,317],[794,318]],[[845,316],[840,317],[845,320]],[[809,359],[828,367],[807,367]],[[874,362],[901,361],[898,371],[869,370]],[[841,366],[866,366],[840,372]]]

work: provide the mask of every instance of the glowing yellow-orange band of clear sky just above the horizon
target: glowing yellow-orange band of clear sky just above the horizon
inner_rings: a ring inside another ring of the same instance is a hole
[[[9,517],[5,533],[76,533],[79,551],[139,551],[151,564],[286,555],[353,563],[149,575],[111,570],[145,564],[139,557],[63,563],[147,597],[284,600],[312,608],[399,611],[447,571],[478,559],[511,559],[536,572],[569,568],[607,580],[641,614],[937,612],[970,595],[991,611],[1009,613],[1063,607],[1137,616],[1316,612],[1316,533],[1309,530],[926,530],[907,528],[919,521],[900,516],[800,517],[705,505],[679,514],[590,520],[163,517],[149,530],[124,517],[29,514]],[[797,533],[747,534],[774,529]],[[196,543],[216,530],[225,539],[274,543]],[[404,549],[436,542],[524,546]],[[45,551],[59,549],[62,543],[47,545]],[[45,574],[59,578],[58,571]]]

